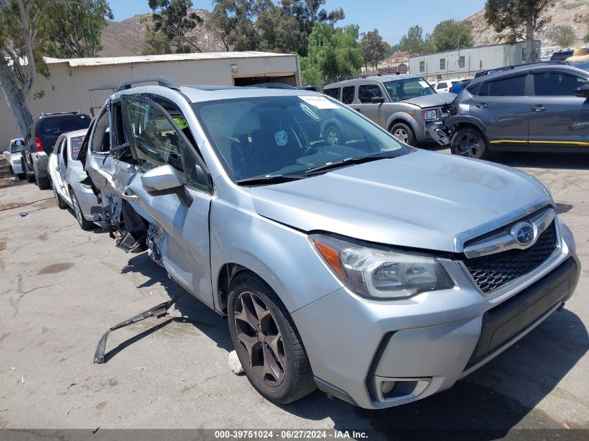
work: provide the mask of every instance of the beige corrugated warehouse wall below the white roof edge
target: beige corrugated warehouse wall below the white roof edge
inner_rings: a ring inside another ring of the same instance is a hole
[[[231,64],[239,71],[231,73]],[[129,79],[168,77],[180,85],[233,86],[235,77],[294,75],[300,84],[296,56],[254,56],[235,59],[201,59],[184,61],[151,61],[148,63],[71,67],[67,61],[49,64],[49,79],[38,77],[29,95],[29,107],[35,118],[42,111],[84,111],[100,108],[112,93],[112,87]],[[105,89],[107,90],[100,90]],[[43,91],[43,98],[33,99]],[[18,137],[12,113],[0,93],[0,151],[8,140]]]

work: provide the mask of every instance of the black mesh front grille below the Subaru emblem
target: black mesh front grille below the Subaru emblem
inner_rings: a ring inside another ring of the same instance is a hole
[[[510,249],[491,256],[465,259],[464,264],[480,290],[489,293],[538,268],[551,256],[557,244],[553,221],[528,249]]]

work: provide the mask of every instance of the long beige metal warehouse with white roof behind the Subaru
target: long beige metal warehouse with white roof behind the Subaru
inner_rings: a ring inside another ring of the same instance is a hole
[[[298,56],[266,52],[213,52],[45,59],[49,78],[38,75],[29,94],[33,118],[41,112],[84,111],[93,116],[122,82],[164,76],[182,85],[248,86],[258,82],[300,85]],[[0,143],[20,135],[6,99],[0,95]]]

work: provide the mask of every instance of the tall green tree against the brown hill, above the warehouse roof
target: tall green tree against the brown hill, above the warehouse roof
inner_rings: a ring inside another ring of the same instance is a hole
[[[149,8],[153,11],[153,32],[146,34],[146,43],[156,45],[151,49],[158,48],[163,35],[168,39],[169,47],[178,54],[202,52],[196,39],[190,35],[203,22],[197,13],[190,11],[192,0],[149,0]],[[157,34],[158,31],[161,33]]]

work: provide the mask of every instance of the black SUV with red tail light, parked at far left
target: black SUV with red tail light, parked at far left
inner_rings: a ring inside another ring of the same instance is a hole
[[[31,139],[26,140],[22,152],[23,172],[29,183],[40,189],[49,188],[47,162],[59,135],[73,130],[87,129],[91,118],[80,111],[59,114],[40,114],[31,126]]]

